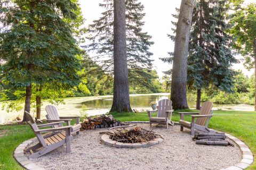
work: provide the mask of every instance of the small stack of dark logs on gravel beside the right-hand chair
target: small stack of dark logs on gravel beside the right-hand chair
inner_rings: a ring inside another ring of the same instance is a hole
[[[226,140],[225,133],[197,133],[193,140],[196,141],[198,145],[221,145],[221,146],[233,146]]]

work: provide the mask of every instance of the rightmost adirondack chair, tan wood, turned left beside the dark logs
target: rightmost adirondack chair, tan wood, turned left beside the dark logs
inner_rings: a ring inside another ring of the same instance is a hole
[[[195,129],[204,131],[204,132],[215,132],[207,128],[211,117],[213,116],[212,113],[212,106],[213,103],[211,101],[205,101],[202,104],[199,113],[195,112],[179,112],[180,114],[180,131],[183,131],[183,127],[191,129],[191,135],[195,135]],[[187,122],[184,120],[184,115],[191,115],[192,122]],[[196,118],[196,121],[195,121]]]

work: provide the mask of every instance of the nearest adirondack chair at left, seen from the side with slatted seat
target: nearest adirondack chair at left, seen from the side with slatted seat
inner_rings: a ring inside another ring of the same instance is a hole
[[[28,118],[28,124],[33,129],[36,135],[36,138],[39,141],[39,143],[37,143],[35,146],[25,150],[25,152],[28,152],[28,151],[31,152],[31,155],[29,156],[29,158],[41,157],[47,154],[48,152],[56,148],[59,148],[60,146],[65,144],[67,148],[67,153],[71,151],[70,140],[73,139],[73,136],[70,134],[70,131],[72,126],[61,126],[58,128],[50,128],[50,129],[39,129],[47,126],[58,125],[60,123],[64,123],[64,121],[37,125],[33,117],[28,112],[25,111],[25,114]],[[47,135],[46,136],[43,135],[44,133],[55,132],[55,131],[61,131],[61,132],[58,134],[52,135],[51,137],[47,137]],[[34,153],[34,151],[36,151],[39,148],[42,148],[42,149]]]

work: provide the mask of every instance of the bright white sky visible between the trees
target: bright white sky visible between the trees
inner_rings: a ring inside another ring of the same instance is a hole
[[[86,19],[85,26],[92,24],[93,20],[97,20],[101,16],[101,12],[104,11],[99,3],[103,0],[79,0],[81,5],[83,16]],[[144,5],[144,12],[146,13],[143,21],[145,25],[142,28],[143,32],[148,32],[152,36],[151,41],[154,41],[154,45],[150,47],[150,52],[154,53],[151,59],[154,60],[154,69],[157,71],[159,78],[161,78],[164,73],[163,71],[170,70],[172,68],[171,64],[164,63],[159,60],[159,57],[167,57],[168,52],[173,52],[174,43],[167,37],[168,33],[171,31],[171,14],[175,14],[175,8],[180,7],[181,0],[139,0]],[[256,3],[256,0],[245,0],[245,3]],[[90,55],[90,53],[89,53]],[[241,59],[241,56],[236,56],[237,59]],[[248,71],[244,68],[242,62],[239,64],[234,64],[233,69],[242,70],[245,75],[251,76],[253,74],[253,69]]]

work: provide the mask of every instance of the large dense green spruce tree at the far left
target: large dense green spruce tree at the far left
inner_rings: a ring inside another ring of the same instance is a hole
[[[63,21],[75,20],[76,8],[71,0],[1,2],[0,78],[9,86],[26,88],[27,112],[33,86],[54,82],[55,88],[68,88],[79,83],[80,50]]]

